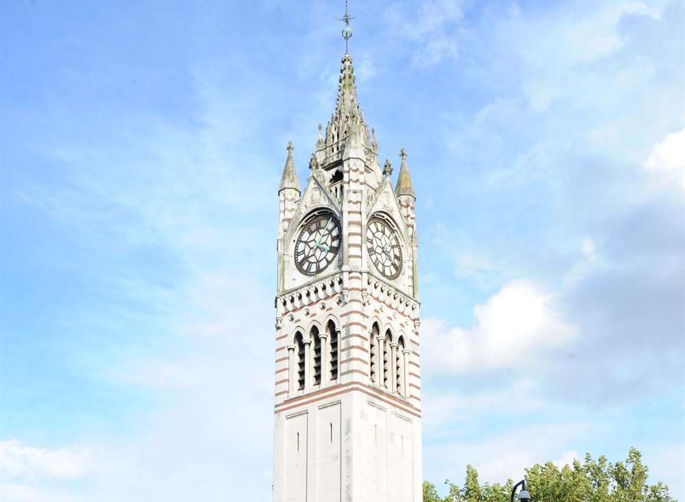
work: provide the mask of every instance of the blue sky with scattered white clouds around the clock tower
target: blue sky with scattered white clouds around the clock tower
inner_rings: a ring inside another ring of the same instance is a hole
[[[417,193],[425,479],[634,446],[685,499],[682,5],[351,8]],[[0,499],[270,499],[276,190],[342,10],[3,6]]]

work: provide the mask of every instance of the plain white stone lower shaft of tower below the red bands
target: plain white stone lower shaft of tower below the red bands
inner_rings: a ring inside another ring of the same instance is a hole
[[[382,393],[332,388],[275,430],[276,502],[421,502],[421,418]]]

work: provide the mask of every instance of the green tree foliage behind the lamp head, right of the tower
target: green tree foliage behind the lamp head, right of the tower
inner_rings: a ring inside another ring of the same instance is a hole
[[[633,448],[625,461],[614,464],[604,456],[594,460],[589,453],[583,462],[574,460],[562,468],[552,462],[535,464],[525,470],[525,481],[532,502],[676,502],[668,486],[647,484],[648,472]],[[424,481],[423,502],[508,502],[514,481],[480,484],[477,470],[469,465],[463,486],[449,479],[445,484],[449,492],[443,498],[434,484]]]

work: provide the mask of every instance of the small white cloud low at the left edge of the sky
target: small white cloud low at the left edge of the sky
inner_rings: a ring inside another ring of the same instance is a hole
[[[0,442],[0,477],[77,479],[86,473],[88,450],[32,447],[11,439]]]

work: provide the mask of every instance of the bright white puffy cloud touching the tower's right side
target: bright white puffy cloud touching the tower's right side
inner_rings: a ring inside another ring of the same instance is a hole
[[[467,373],[530,364],[544,351],[563,347],[575,334],[554,298],[529,281],[512,281],[474,308],[471,329],[423,323],[425,365],[436,371]]]

